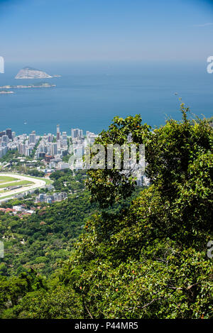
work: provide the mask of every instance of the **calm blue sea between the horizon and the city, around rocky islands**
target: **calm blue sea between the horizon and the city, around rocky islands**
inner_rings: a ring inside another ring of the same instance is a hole
[[[45,80],[14,80],[18,70],[31,66],[62,75]],[[114,116],[141,114],[151,126],[166,117],[180,119],[180,101],[193,114],[212,116],[213,74],[207,62],[70,62],[5,65],[0,86],[50,82],[57,87],[13,89],[0,95],[0,131],[17,134],[55,133],[80,128],[99,133]],[[175,94],[175,93],[178,93]],[[190,115],[192,116],[192,115]],[[25,124],[25,121],[27,124]]]

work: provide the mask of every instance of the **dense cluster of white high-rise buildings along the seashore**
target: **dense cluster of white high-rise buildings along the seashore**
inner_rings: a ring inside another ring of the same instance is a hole
[[[55,157],[57,163],[61,163],[62,158],[71,153],[70,138],[72,139],[72,153],[82,156],[84,147],[94,143],[96,137],[97,134],[90,131],[86,131],[84,135],[82,129],[71,129],[70,135],[67,135],[67,131],[60,131],[60,124],[56,126],[56,135],[44,133],[40,136],[32,131],[29,134],[22,133],[16,136],[15,131],[6,129],[0,131],[0,158],[9,151],[18,151],[21,155],[44,158],[48,163]],[[67,163],[64,166],[67,167]]]

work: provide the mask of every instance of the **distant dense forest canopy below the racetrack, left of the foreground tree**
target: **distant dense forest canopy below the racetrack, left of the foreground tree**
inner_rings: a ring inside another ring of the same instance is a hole
[[[27,204],[26,201],[26,207]],[[4,258],[0,258],[0,263],[4,263],[3,271],[0,266],[0,275],[26,272],[31,267],[45,275],[53,273],[60,261],[70,256],[73,243],[92,212],[94,205],[89,203],[88,192],[50,207],[43,205],[31,216],[0,212],[0,233],[4,236],[5,249]]]

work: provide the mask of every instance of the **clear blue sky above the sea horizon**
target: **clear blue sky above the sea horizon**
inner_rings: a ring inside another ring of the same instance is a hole
[[[6,61],[206,60],[213,1],[0,0]]]

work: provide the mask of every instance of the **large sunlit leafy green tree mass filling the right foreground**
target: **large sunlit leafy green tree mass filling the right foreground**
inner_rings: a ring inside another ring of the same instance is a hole
[[[90,219],[63,268],[61,280],[94,318],[212,317],[212,129],[205,119],[190,124],[181,109],[181,122],[148,135],[153,185],[124,212]],[[89,187],[99,191],[95,173]]]

